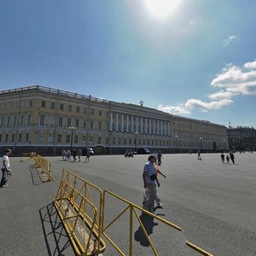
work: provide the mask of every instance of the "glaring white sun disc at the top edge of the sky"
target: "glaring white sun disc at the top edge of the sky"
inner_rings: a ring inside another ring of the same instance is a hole
[[[145,0],[148,11],[158,19],[165,19],[177,8],[181,0]]]

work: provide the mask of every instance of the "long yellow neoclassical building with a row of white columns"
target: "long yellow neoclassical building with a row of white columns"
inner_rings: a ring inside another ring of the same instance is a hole
[[[228,149],[224,125],[44,86],[0,91],[0,148],[61,154],[62,148],[164,153]]]

